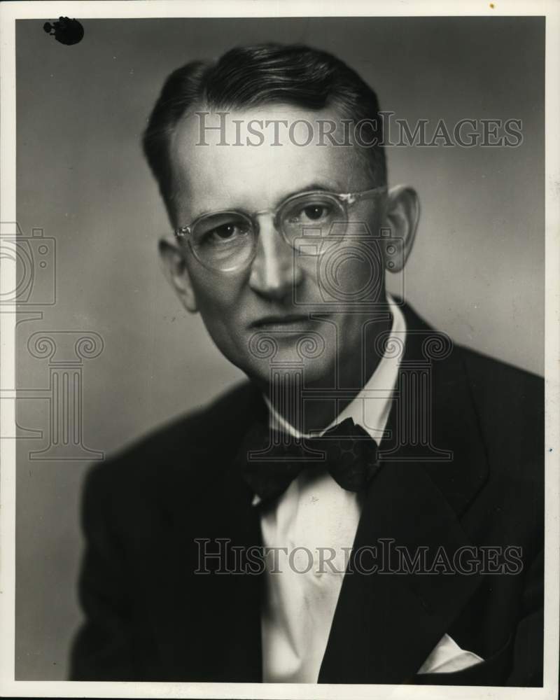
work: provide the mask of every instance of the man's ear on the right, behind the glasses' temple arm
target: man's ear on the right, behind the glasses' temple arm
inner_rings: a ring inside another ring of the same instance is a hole
[[[420,202],[416,191],[407,185],[388,190],[386,207],[387,237],[382,237],[385,269],[400,272],[412,251],[420,218]]]

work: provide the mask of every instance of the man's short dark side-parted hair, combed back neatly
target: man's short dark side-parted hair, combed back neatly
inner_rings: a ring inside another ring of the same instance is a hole
[[[356,71],[325,51],[304,45],[261,44],[234,48],[216,62],[195,61],[165,81],[144,132],[144,154],[158,181],[169,216],[173,217],[169,141],[191,107],[228,111],[290,104],[304,109],[333,107],[340,118],[370,120],[368,165],[375,183],[386,183],[377,95]]]

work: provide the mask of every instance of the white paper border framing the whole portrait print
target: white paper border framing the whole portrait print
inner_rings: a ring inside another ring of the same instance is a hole
[[[451,8],[453,11],[451,11]],[[514,16],[546,18],[545,55],[545,663],[544,687],[468,687],[414,685],[314,685],[197,682],[76,682],[15,680],[15,395],[1,401],[0,412],[0,694],[42,697],[184,697],[377,700],[400,698],[489,700],[557,697],[559,658],[559,456],[560,456],[560,4],[552,0],[495,3],[443,1],[412,3],[379,0],[152,0],[127,2],[21,2],[0,6],[1,41],[1,186],[0,221],[17,221],[15,211],[15,20],[68,15],[87,18],[306,17],[306,16]],[[4,288],[15,288],[15,262],[2,259]],[[0,314],[0,386],[15,387],[15,304]]]

